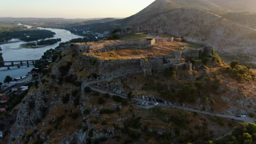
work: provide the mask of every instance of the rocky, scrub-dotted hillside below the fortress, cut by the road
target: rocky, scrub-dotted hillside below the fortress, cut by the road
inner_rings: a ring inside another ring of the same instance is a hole
[[[213,57],[208,59],[209,62],[216,60],[212,59]],[[202,67],[201,60],[198,61]],[[193,141],[204,142],[228,133],[232,129],[231,125],[236,124],[234,121],[222,119],[224,125],[219,125],[210,116],[163,106],[150,108],[143,106],[141,102],[117,96],[127,94],[129,91],[144,94],[143,92],[147,88],[149,91],[144,95],[157,95],[162,91],[169,92],[171,88],[179,89],[178,86],[193,83],[196,77],[212,77],[217,68],[201,69],[198,73],[194,70],[193,74],[189,74],[189,76],[187,71],[181,70],[178,71],[177,79],[173,78],[176,73],[172,73],[172,77],[170,77],[171,73],[168,73],[165,79],[162,77],[161,71],[157,74],[154,71],[155,75],[149,77],[144,77],[142,71],[139,74],[127,74],[113,77],[113,79],[110,77],[106,81],[100,81],[100,76],[94,75],[97,64],[72,49],[62,52],[57,61],[50,65],[45,71],[45,75],[38,80],[38,84],[37,82],[34,84],[20,103],[16,122],[10,129],[8,143],[82,144],[102,141],[106,141],[106,143],[135,141],[179,143],[181,136],[187,143],[191,140],[191,131],[193,132]],[[215,66],[218,67],[218,65]],[[217,112],[231,115],[237,111],[241,112],[241,110],[247,110],[247,112],[255,110],[253,82],[239,85],[244,88],[249,87],[245,92],[228,89],[236,85],[236,82],[230,77],[220,78],[218,82],[223,85],[223,88],[220,88],[218,92],[224,92],[225,95],[220,97],[219,94],[214,94],[211,90],[209,97],[216,98],[218,104],[225,104],[221,109],[217,110],[220,106],[213,107],[210,102],[200,102],[200,100],[187,107],[203,110],[203,107],[206,106],[204,109],[207,111],[216,108]],[[82,85],[82,82],[84,84],[89,81],[99,82],[94,83],[91,89]],[[216,82],[217,80],[212,78],[211,81]],[[155,82],[157,83],[155,84]],[[212,82],[203,84],[210,88]],[[92,91],[92,88],[98,90]],[[155,92],[154,90],[159,91]],[[208,89],[205,92],[208,94]],[[243,94],[242,97],[240,93]],[[248,95],[252,95],[252,98],[249,98]],[[203,98],[199,99],[202,101]],[[241,98],[245,98],[245,100]],[[230,106],[231,104],[236,104],[236,106]],[[247,108],[244,109],[242,106],[247,106]],[[228,107],[226,111],[223,110],[225,107]],[[202,137],[205,133],[210,135]]]

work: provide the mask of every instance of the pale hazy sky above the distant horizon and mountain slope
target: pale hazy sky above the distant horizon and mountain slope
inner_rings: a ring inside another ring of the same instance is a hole
[[[127,17],[155,0],[0,0],[0,17]]]

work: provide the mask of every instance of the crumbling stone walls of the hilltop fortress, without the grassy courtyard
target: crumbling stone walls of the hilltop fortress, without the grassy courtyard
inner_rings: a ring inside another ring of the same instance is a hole
[[[213,46],[205,46],[201,49],[184,49],[174,51],[173,55],[131,58],[121,60],[105,60],[98,57],[86,55],[86,53],[100,53],[114,51],[118,49],[149,49],[150,47],[159,47],[158,42],[172,42],[173,38],[153,38],[142,41],[108,41],[106,43],[78,43],[72,44],[72,49],[78,53],[83,53],[83,57],[91,61],[97,61],[98,75],[119,75],[135,71],[142,71],[145,76],[158,73],[162,70],[192,70],[192,63],[187,63],[186,59],[198,59],[202,57],[212,57]],[[176,43],[176,42],[173,42]]]

